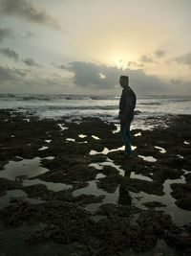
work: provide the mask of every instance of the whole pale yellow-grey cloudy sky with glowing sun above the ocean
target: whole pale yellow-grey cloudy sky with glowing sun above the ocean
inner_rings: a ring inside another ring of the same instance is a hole
[[[191,96],[190,0],[0,0],[0,93]]]

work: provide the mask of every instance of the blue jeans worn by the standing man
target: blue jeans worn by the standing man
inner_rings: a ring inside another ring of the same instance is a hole
[[[122,123],[120,121],[120,136],[123,141],[123,144],[125,145],[125,152],[127,154],[131,154],[131,137],[130,137],[130,126],[131,122],[134,119],[134,115],[131,116],[130,120],[126,123]]]

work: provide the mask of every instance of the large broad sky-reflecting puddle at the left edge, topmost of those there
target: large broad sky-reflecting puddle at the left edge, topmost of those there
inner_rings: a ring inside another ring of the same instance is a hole
[[[14,180],[16,176],[32,177],[49,172],[49,169],[39,166],[40,160],[41,158],[35,157],[33,159],[23,159],[19,162],[9,161],[4,167],[5,170],[0,172],[0,177]]]

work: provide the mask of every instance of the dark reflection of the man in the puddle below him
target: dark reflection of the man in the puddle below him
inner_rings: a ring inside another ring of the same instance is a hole
[[[123,205],[131,205],[132,198],[129,194],[129,179],[130,179],[130,172],[125,172],[124,180],[122,180],[119,186],[119,193],[118,193],[118,203]]]

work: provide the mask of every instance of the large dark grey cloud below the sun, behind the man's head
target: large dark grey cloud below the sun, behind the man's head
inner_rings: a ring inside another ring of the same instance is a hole
[[[130,77],[130,84],[141,94],[165,93],[168,84],[160,81],[155,76],[147,76],[142,69],[117,69],[95,63],[74,61],[68,66],[68,70],[74,72],[74,84],[76,87],[89,90],[114,90],[121,75]],[[103,78],[104,77],[104,78]]]

